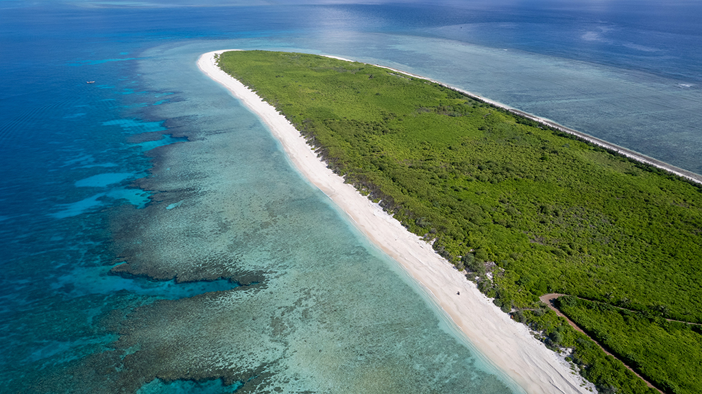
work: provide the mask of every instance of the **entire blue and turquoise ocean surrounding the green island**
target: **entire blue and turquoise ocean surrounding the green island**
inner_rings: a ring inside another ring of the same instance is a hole
[[[0,391],[522,393],[197,57],[381,64],[702,174],[699,20],[698,1],[0,1]]]

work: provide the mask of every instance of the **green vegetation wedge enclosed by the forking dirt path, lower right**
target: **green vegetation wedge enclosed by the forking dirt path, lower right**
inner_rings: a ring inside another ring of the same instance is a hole
[[[702,328],[576,297],[559,309],[630,367],[670,393],[702,393]]]

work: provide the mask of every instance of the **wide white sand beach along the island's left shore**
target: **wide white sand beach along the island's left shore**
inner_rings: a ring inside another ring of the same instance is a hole
[[[293,165],[344,210],[366,237],[423,285],[486,358],[527,393],[590,393],[581,387],[580,376],[534,339],[526,326],[510,320],[428,243],[404,229],[352,185],[345,184],[317,158],[284,116],[219,69],[214,55],[221,52],[224,50],[202,55],[197,62],[201,71],[225,86],[263,120]]]

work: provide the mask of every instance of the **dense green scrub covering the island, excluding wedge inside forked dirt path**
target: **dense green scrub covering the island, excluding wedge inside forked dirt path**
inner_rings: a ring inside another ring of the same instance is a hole
[[[558,328],[539,295],[702,322],[700,186],[388,69],[262,51],[224,53],[220,66],[503,311],[544,330],[547,344],[573,346],[600,389],[649,390]]]

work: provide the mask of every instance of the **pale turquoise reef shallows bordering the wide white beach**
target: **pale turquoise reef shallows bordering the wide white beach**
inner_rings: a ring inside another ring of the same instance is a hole
[[[263,388],[288,392],[519,392],[290,168],[258,119],[194,67],[202,45],[154,48],[144,57],[157,61],[140,62],[152,86],[188,98],[154,114],[177,114],[175,128],[197,133],[158,151],[142,186],[158,189],[159,203],[118,220],[120,254],[137,275],[257,284],[139,309],[128,322],[138,330],[122,340],[168,344],[168,363],[190,369],[185,379],[264,376]],[[133,215],[146,217],[138,231]],[[184,313],[194,318],[168,318],[168,329],[149,318]],[[178,343],[183,335],[190,340]],[[253,379],[242,390],[260,390]]]

